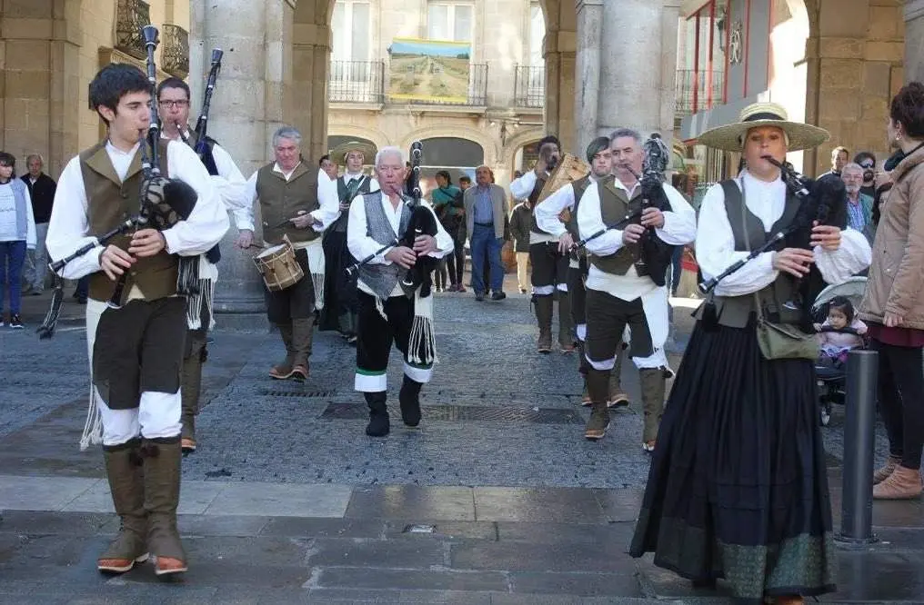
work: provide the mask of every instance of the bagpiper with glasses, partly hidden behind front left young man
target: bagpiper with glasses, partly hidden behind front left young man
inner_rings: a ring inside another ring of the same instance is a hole
[[[157,86],[157,105],[161,117],[161,136],[187,143],[196,148],[199,133],[189,128],[189,87],[178,77],[168,77]],[[206,153],[211,154],[217,174],[212,174],[212,184],[225,209],[235,216],[250,207],[247,197],[247,181],[237,170],[231,155],[212,138],[206,140]],[[208,162],[203,162],[208,170]],[[248,246],[253,242],[253,231],[240,231],[238,241]],[[188,298],[186,350],[183,356],[183,431],[181,444],[184,452],[196,450],[196,416],[199,414],[199,397],[202,383],[202,362],[208,355],[206,335],[215,325],[213,300],[215,282],[218,280],[216,263],[221,259],[218,246],[199,259],[199,291]]]

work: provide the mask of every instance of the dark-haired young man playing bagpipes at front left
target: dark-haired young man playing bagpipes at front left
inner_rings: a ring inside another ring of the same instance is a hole
[[[126,572],[150,554],[155,573],[164,575],[187,569],[176,529],[179,374],[187,330],[179,289],[195,282],[188,271],[198,265],[188,261],[222,239],[228,219],[192,149],[159,136],[150,148],[149,127],[157,132],[152,78],[132,65],[108,65],[93,78],[91,106],[108,136],[61,173],[48,252],[64,259],[97,243],[59,271],[67,279],[90,276],[91,406],[102,423],[106,475],[122,520],[97,567]],[[141,220],[127,235],[98,243],[103,233],[137,215]]]

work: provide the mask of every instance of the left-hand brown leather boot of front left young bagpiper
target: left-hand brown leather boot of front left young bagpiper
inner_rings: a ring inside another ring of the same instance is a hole
[[[148,514],[144,510],[144,471],[140,439],[122,445],[103,445],[106,479],[120,518],[116,540],[99,559],[101,572],[121,574],[148,560]]]

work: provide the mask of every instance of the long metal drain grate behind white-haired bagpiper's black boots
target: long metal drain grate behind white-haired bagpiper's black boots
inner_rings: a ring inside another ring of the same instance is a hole
[[[397,406],[389,406],[391,415],[399,417]],[[489,408],[481,406],[423,406],[423,417],[430,421],[505,421],[535,424],[583,424],[581,417],[571,409],[554,408]],[[361,403],[332,403],[324,409],[324,420],[362,420],[369,418],[369,410]]]

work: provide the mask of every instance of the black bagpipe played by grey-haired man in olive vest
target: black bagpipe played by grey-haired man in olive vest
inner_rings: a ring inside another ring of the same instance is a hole
[[[645,157],[642,160],[641,174],[636,173],[627,165],[623,166],[627,171],[632,172],[641,185],[641,207],[635,212],[626,215],[624,219],[619,220],[614,225],[608,225],[605,229],[591,233],[588,237],[577,241],[571,247],[572,253],[577,253],[588,242],[601,237],[607,231],[621,231],[630,224],[640,224],[641,216],[647,208],[657,208],[662,212],[667,212],[671,209],[671,201],[667,198],[663,187],[664,171],[667,170],[670,152],[658,133],[651,133],[642,148],[645,152]],[[675,246],[664,243],[658,237],[654,227],[650,227],[638,239],[638,248],[639,255],[636,266],[645,267],[651,280],[658,286],[663,286],[667,282],[667,269],[671,267]]]

